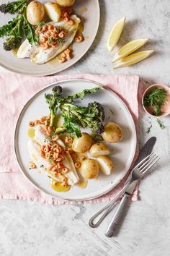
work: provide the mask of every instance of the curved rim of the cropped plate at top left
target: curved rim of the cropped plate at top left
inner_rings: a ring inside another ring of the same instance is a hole
[[[59,69],[58,72],[43,72],[43,74],[31,74],[31,72],[22,72],[21,70],[19,69],[14,69],[12,67],[8,67],[5,63],[2,63],[2,61],[0,60],[0,66],[1,67],[4,67],[5,69],[11,71],[11,72],[14,72],[14,73],[17,73],[17,74],[24,74],[24,75],[29,75],[29,76],[32,76],[32,77],[44,77],[44,76],[48,76],[48,75],[52,75],[52,74],[58,74],[59,72],[62,72],[66,69],[68,69],[69,67],[72,67],[74,64],[76,64],[85,54],[87,51],[89,51],[89,48],[91,47],[91,45],[94,43],[94,39],[96,38],[97,36],[97,33],[98,33],[98,30],[99,30],[99,22],[100,22],[100,6],[99,6],[99,0],[95,0],[97,2],[97,16],[98,16],[98,19],[97,19],[97,29],[96,29],[96,32],[94,33],[94,36],[92,37],[91,39],[91,43],[89,43],[89,45],[84,48],[84,53],[81,54],[79,57],[77,57],[75,59],[75,61],[73,61],[71,64],[68,64],[68,67],[62,69]],[[47,62],[48,63],[48,62]],[[46,64],[47,64],[46,63]]]

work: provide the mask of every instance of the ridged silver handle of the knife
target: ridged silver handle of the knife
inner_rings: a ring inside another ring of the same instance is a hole
[[[105,235],[107,237],[112,237],[113,234],[115,233],[118,224],[120,223],[120,220],[122,218],[122,213],[124,213],[127,202],[128,202],[128,198],[130,197],[130,195],[126,194],[122,197],[122,200],[120,201],[120,204],[118,205],[116,211],[115,211],[115,215],[113,216],[112,220],[109,223],[109,226],[105,232]]]

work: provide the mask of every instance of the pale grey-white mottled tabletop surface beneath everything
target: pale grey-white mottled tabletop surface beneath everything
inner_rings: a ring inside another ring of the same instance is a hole
[[[79,1],[79,0],[77,0]],[[92,1],[92,0],[91,0]],[[86,1],[84,1],[86,2]],[[86,56],[64,73],[138,74],[146,84],[169,85],[170,9],[169,0],[100,0],[99,33]],[[112,24],[126,15],[127,24],[120,43],[133,38],[151,38],[144,48],[156,54],[146,61],[125,69],[112,69],[112,54],[106,40]],[[170,116],[164,118],[166,129],[156,121],[146,134],[148,116],[140,111],[140,146],[156,135],[156,153],[161,161],[155,171],[140,184],[140,200],[132,202],[117,236],[108,239],[104,231],[112,213],[98,229],[88,226],[89,217],[104,204],[41,205],[35,202],[1,200],[1,256],[168,256],[170,255]]]

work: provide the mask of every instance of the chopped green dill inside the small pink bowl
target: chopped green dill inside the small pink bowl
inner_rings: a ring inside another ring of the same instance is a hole
[[[153,108],[153,115],[161,114],[161,107],[166,104],[167,91],[164,88],[155,88],[144,98],[144,106]]]

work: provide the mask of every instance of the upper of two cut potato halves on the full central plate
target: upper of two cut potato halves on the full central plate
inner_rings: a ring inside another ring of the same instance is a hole
[[[97,158],[100,155],[109,155],[109,149],[102,142],[95,143],[90,148],[90,155]]]

